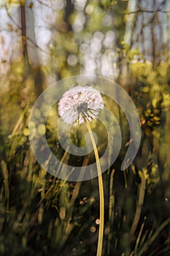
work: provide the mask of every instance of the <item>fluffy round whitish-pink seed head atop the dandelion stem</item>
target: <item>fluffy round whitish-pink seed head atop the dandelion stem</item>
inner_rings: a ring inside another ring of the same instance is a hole
[[[96,119],[103,108],[101,94],[90,86],[75,86],[66,91],[58,102],[59,116],[74,127],[85,119]]]

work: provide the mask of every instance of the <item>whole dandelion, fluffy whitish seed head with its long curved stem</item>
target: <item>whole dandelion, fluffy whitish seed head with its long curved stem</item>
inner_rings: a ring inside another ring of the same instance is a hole
[[[93,138],[93,132],[90,128],[90,121],[96,119],[100,111],[104,108],[104,102],[101,94],[90,86],[76,86],[63,94],[58,102],[58,113],[68,124],[74,127],[85,122],[90,139],[93,144],[93,150],[96,157],[96,166],[98,170],[98,186],[100,197],[100,224],[98,232],[97,256],[101,256],[104,236],[104,186],[101,176],[101,165],[98,157],[96,142]]]

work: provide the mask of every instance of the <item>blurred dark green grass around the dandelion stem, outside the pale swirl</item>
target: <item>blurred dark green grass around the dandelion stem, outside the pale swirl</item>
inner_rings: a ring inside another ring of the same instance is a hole
[[[100,205],[104,211],[102,255],[169,255],[169,108],[162,110],[159,124],[144,124],[139,153],[125,172],[120,165],[128,127],[122,115],[123,146],[115,164],[102,175],[105,203],[100,204],[98,178],[61,181],[36,162],[27,132],[34,94],[28,91],[30,97],[22,107],[13,91],[5,96],[1,92],[0,255],[96,255],[101,227],[96,219],[103,219],[98,216]],[[131,94],[140,105],[135,89]],[[148,95],[143,94],[143,99],[150,102]],[[111,103],[108,107],[117,111]],[[47,125],[50,146],[60,149],[53,120]],[[101,128],[93,124],[102,135]],[[99,143],[103,145],[104,140]],[[69,154],[60,154],[64,162],[70,161]],[[91,161],[93,156],[84,157],[82,166]]]

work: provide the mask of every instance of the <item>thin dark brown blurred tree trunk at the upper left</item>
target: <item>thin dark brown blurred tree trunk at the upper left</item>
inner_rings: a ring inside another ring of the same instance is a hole
[[[39,94],[43,91],[43,83],[42,83],[42,71],[41,65],[39,63],[39,54],[36,46],[35,32],[34,32],[34,15],[31,15],[31,19],[29,19],[29,24],[27,24],[27,18],[29,12],[26,13],[26,1],[25,3],[20,4],[20,21],[21,21],[21,36],[22,36],[22,44],[23,44],[23,60],[24,60],[24,70],[23,70],[23,79],[25,80],[28,75],[32,75],[34,79],[35,85],[35,94],[36,97],[39,97]],[[28,53],[28,32],[27,27],[29,25],[29,34],[33,35],[30,38],[31,42],[35,42],[34,45],[34,58],[36,60],[36,64],[32,63],[29,58]]]

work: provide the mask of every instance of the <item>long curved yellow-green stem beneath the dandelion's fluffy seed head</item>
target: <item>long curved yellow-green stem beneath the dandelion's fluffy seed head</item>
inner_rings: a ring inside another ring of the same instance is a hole
[[[102,246],[103,246],[103,238],[104,238],[104,186],[103,186],[103,179],[101,175],[101,165],[99,162],[98,157],[98,150],[96,147],[96,142],[93,137],[93,132],[90,127],[90,123],[88,120],[85,121],[88,132],[90,134],[90,139],[93,144],[93,150],[96,157],[96,165],[98,171],[98,185],[99,185],[99,197],[100,197],[100,225],[99,225],[99,232],[98,232],[98,248],[97,248],[97,256],[101,256],[102,254]]]

